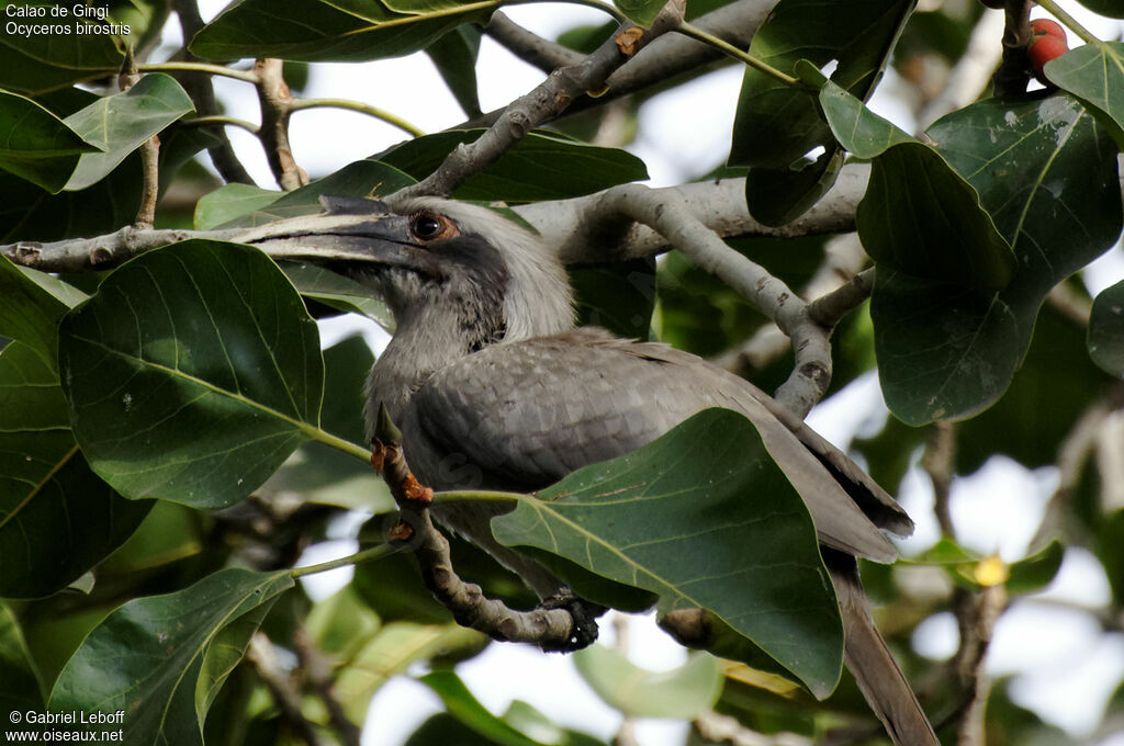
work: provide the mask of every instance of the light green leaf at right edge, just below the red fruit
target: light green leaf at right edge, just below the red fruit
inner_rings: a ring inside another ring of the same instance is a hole
[[[1088,106],[1124,148],[1124,43],[1085,44],[1048,62],[1044,72]]]

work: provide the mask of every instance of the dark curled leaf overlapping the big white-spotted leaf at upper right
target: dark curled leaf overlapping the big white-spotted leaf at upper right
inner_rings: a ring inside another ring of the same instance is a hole
[[[976,190],[921,143],[874,158],[855,224],[879,269],[985,293],[1004,288],[1015,269]]]

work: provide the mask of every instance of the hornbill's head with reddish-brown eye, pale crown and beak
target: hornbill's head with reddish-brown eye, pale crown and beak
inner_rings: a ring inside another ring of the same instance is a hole
[[[329,213],[363,218],[346,235],[330,236],[326,264],[380,294],[399,328],[455,316],[470,346],[480,348],[573,324],[572,291],[556,255],[488,208],[434,197],[392,207],[350,198],[323,202]]]

